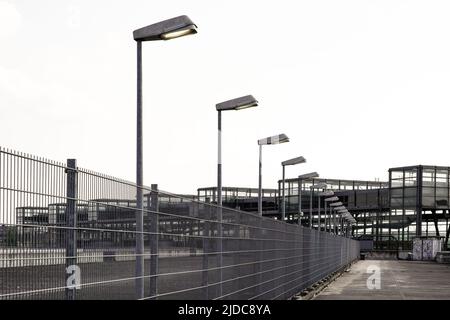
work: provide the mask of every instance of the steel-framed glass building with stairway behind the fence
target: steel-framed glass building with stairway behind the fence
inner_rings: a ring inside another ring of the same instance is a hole
[[[361,181],[342,179],[297,178],[285,180],[286,219],[290,223],[307,224],[309,214],[316,226],[319,218],[330,218],[325,212],[324,197],[312,194],[311,186],[326,183],[356,219],[352,235],[357,238],[373,237],[378,250],[410,250],[412,239],[418,236],[437,236],[449,245],[450,218],[450,167],[407,166],[389,169],[388,181]],[[299,215],[299,183],[301,183],[301,208]],[[278,189],[264,190],[263,214],[281,218],[282,180]],[[250,188],[223,188],[223,205],[256,211],[257,190]],[[253,190],[253,192],[252,192]],[[200,188],[200,200],[214,202],[217,189]]]

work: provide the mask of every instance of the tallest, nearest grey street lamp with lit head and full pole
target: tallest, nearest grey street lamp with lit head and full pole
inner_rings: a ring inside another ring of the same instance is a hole
[[[136,137],[136,298],[144,297],[144,212],[142,150],[142,42],[170,40],[197,33],[197,26],[187,16],[161,21],[133,32],[137,42],[137,137]]]

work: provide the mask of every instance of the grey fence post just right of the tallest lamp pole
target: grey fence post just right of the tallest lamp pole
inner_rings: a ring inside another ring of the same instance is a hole
[[[150,297],[158,294],[159,260],[159,201],[158,185],[152,184],[150,192]],[[156,298],[156,297],[155,297]]]

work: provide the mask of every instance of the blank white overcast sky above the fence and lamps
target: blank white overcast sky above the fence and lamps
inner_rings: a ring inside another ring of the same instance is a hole
[[[144,182],[195,193],[288,177],[387,179],[450,165],[449,1],[0,1],[0,145],[135,180],[132,31],[181,14],[195,36],[144,43]]]

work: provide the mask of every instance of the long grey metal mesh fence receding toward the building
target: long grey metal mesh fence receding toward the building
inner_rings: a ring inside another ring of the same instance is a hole
[[[156,186],[138,232],[136,190],[0,148],[0,299],[287,299],[359,256],[357,241]]]

